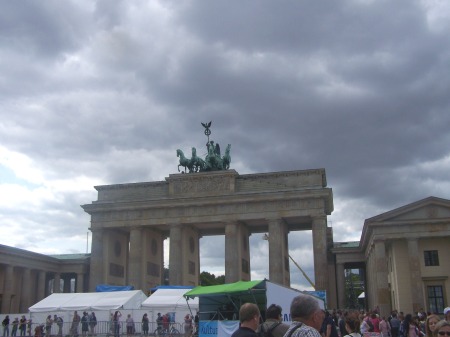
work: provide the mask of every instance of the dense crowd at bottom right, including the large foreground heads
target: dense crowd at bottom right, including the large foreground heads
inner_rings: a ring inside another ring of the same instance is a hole
[[[290,308],[292,323],[282,322],[282,308],[276,304],[266,310],[260,323],[256,304],[245,303],[239,311],[239,328],[231,337],[450,337],[450,307],[444,317],[420,310],[416,315],[392,311],[389,317],[377,310],[322,310],[311,296],[297,296]]]

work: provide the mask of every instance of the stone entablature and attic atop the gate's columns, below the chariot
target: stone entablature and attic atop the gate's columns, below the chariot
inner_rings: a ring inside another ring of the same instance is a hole
[[[324,175],[321,169],[244,176],[234,170],[174,174],[167,182],[96,187],[98,200],[83,208],[91,214],[93,228],[283,217],[296,218],[288,221],[292,230],[299,217],[310,222],[312,215],[331,214],[332,191],[324,188]],[[165,196],[160,193],[163,184]]]

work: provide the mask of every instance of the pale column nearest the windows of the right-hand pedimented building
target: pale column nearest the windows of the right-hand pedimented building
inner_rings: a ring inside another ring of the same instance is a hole
[[[417,239],[408,240],[409,274],[411,280],[411,302],[413,311],[417,312],[425,307],[423,284],[420,276],[420,256]]]

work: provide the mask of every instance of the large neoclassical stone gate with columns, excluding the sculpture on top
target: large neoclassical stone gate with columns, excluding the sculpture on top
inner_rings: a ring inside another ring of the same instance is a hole
[[[333,196],[326,186],[324,169],[171,174],[165,181],[97,186],[98,200],[82,206],[91,215],[90,290],[161,284],[168,237],[170,284],[198,284],[199,239],[210,235],[225,235],[226,282],[250,280],[253,233],[269,234],[269,278],[289,286],[288,233],[302,230],[312,230],[316,289],[330,290]]]

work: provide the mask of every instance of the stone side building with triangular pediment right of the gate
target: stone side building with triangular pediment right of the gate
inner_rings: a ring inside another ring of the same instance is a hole
[[[363,269],[368,309],[442,314],[450,305],[450,200],[428,197],[369,218],[357,245],[334,243],[338,307],[344,270]]]

